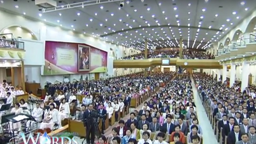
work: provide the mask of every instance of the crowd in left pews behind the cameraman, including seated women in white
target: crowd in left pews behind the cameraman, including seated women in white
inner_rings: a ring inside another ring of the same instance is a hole
[[[154,73],[145,77],[144,73],[140,72],[105,80],[48,84],[48,92],[44,99],[46,107],[40,129],[54,129],[56,125],[61,124],[61,120],[69,118],[70,115],[76,115],[72,107],[85,110],[91,103],[94,104],[95,109],[106,110],[108,118],[115,115],[117,121],[119,110],[122,111],[127,107],[131,98],[137,98],[156,88],[159,86],[159,80],[167,81],[174,74],[174,72]],[[84,95],[81,106],[76,99],[78,94]],[[78,113],[78,119],[82,118],[80,114]]]

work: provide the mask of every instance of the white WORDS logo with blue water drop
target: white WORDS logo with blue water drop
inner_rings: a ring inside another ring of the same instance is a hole
[[[26,138],[24,133],[21,133],[20,136],[22,137],[24,144],[78,144],[78,142],[75,140],[75,137],[49,137],[46,132],[43,135],[37,133],[36,137],[33,137],[32,134],[29,134],[29,137]]]

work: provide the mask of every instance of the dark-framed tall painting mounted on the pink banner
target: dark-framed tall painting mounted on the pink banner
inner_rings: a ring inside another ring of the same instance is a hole
[[[78,72],[90,71],[90,47],[78,45]]]

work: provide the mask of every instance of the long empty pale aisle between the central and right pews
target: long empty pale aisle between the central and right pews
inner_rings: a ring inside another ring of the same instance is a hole
[[[208,120],[208,117],[202,105],[201,99],[199,98],[199,95],[197,93],[197,88],[195,86],[195,82],[192,77],[191,77],[191,81],[192,81],[191,86],[193,90],[194,101],[195,101],[196,110],[197,110],[196,111],[197,118],[203,130],[203,144],[209,144],[209,142],[211,144],[218,144],[217,139],[214,135],[213,129],[211,127],[211,123]]]

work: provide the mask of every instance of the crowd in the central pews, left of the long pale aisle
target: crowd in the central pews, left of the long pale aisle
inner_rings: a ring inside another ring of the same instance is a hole
[[[148,102],[141,110],[134,110],[125,122],[112,128],[107,143],[115,143],[119,137],[122,144],[199,144],[202,129],[198,124],[193,91],[189,74],[175,77]]]

